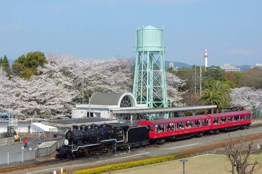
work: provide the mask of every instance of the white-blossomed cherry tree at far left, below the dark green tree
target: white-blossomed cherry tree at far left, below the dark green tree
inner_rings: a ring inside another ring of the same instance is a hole
[[[13,114],[19,119],[65,118],[72,109],[73,92],[57,84],[47,76],[32,76],[25,80],[6,77],[0,69],[0,106],[8,110],[13,106]]]

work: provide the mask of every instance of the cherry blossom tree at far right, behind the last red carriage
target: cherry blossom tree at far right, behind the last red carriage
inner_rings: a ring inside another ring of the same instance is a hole
[[[232,106],[252,110],[253,115],[256,116],[256,109],[262,105],[262,90],[252,87],[240,87],[231,90]]]

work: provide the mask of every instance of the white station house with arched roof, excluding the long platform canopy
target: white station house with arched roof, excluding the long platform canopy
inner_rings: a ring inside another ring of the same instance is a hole
[[[90,104],[77,104],[72,110],[72,118],[101,117],[116,119],[112,110],[146,109],[147,104],[137,104],[130,92],[106,93],[96,92],[90,98]]]

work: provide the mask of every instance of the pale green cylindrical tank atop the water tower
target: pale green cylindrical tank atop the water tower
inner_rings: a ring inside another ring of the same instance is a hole
[[[147,26],[136,31],[136,47],[135,52],[142,51],[165,51],[163,45],[164,30]]]

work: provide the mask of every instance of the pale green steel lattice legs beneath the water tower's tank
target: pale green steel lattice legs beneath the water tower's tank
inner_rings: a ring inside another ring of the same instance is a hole
[[[164,52],[136,52],[133,95],[137,103],[167,107]]]

